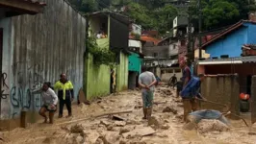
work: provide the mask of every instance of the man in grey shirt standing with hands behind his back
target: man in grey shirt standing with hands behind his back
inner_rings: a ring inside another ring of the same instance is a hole
[[[146,71],[145,66],[142,66],[141,71],[142,73],[139,76],[139,84],[141,86],[142,93],[143,119],[149,119],[152,114],[153,97],[157,80],[153,73]]]

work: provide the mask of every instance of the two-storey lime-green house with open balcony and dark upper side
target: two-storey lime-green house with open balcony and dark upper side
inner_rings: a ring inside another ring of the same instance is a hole
[[[115,53],[115,91],[128,88],[128,36],[129,19],[112,12],[94,12],[89,15],[90,36],[96,37],[99,47]],[[99,34],[101,37],[98,37]],[[118,40],[117,40],[118,39]],[[86,96],[93,99],[108,95],[113,87],[111,67],[93,64],[93,56],[88,53],[86,60]]]

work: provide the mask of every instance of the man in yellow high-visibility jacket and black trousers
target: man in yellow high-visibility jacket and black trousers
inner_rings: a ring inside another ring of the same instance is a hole
[[[64,105],[67,108],[68,116],[72,116],[71,102],[74,99],[73,84],[67,80],[65,74],[61,74],[61,79],[54,84],[54,90],[58,90],[58,98],[60,100],[59,118],[63,117]]]

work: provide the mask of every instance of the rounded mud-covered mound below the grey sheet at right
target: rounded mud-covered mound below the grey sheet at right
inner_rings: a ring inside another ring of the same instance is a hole
[[[200,133],[207,132],[227,132],[228,126],[218,120],[203,119],[197,124],[197,131]]]

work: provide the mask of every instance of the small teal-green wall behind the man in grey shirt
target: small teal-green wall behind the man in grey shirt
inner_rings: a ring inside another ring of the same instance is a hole
[[[141,73],[141,58],[136,53],[132,53],[132,55],[129,56],[129,71]]]

